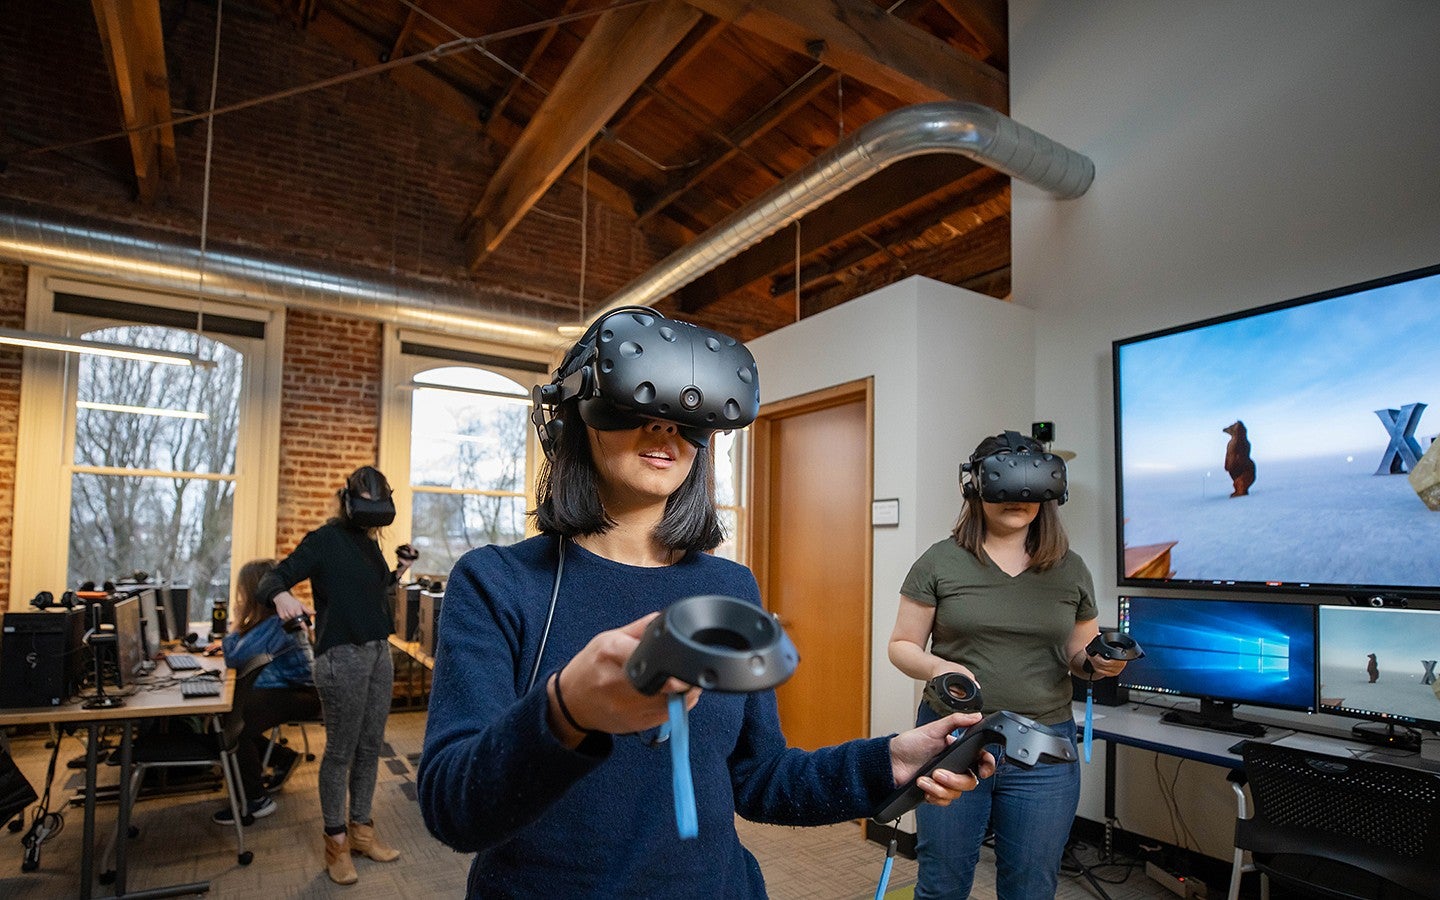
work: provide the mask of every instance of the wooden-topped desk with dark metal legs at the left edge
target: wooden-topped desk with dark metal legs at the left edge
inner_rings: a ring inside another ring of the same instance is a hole
[[[130,808],[134,798],[130,796],[131,773],[131,739],[134,724],[138,719],[163,719],[168,716],[207,716],[230,711],[235,700],[235,671],[225,668],[220,657],[199,657],[200,665],[207,670],[225,672],[223,688],[216,697],[196,697],[186,700],[180,694],[180,687],[168,685],[147,690],[158,681],[171,677],[164,662],[156,664],[156,671],[135,681],[135,693],[125,697],[125,706],[111,710],[86,710],[81,704],[82,697],[73,697],[60,706],[9,708],[0,710],[0,727],[12,724],[84,724],[88,730],[85,742],[85,831],[81,838],[81,900],[89,900],[95,883],[95,785],[98,775],[99,730],[107,724],[121,726],[120,739],[120,840],[115,847],[115,896],[125,896],[125,835],[130,832]],[[125,690],[130,690],[128,687]],[[107,688],[107,693],[118,693]],[[141,891],[131,896],[163,897],[179,893],[203,893],[209,890],[207,883],[177,886],[176,888],[158,888]]]

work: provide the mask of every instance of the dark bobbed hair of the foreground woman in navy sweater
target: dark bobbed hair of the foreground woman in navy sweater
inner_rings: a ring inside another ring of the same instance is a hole
[[[600,504],[600,474],[590,456],[590,441],[575,402],[560,406],[564,422],[554,442],[554,458],[540,467],[536,482],[537,507],[531,513],[541,534],[577,537],[602,534],[615,527]],[[716,481],[710,449],[696,448],[696,461],[674,494],[665,501],[665,516],[655,526],[655,540],[670,550],[710,552],[724,540],[716,513]]]

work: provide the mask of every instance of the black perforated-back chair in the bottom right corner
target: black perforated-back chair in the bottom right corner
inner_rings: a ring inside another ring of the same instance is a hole
[[[1230,900],[1250,868],[1263,897],[1269,881],[1332,900],[1440,897],[1440,775],[1253,740],[1241,755]]]

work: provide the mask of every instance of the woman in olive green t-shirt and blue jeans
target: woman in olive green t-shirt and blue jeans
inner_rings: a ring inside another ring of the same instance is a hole
[[[975,448],[971,468],[998,452],[1044,451],[1028,438],[996,435]],[[962,492],[950,537],[916,560],[900,589],[890,661],[920,681],[969,675],[985,713],[1020,713],[1073,742],[1071,672],[1103,678],[1125,668],[1123,661],[1094,658],[1094,674],[1083,670],[1084,648],[1099,634],[1090,570],[1070,552],[1058,501],[989,503],[963,475]],[[935,717],[920,707],[922,720]],[[916,900],[968,897],[991,828],[999,900],[1050,900],[1079,802],[1079,763],[1024,768],[1002,760],[962,802],[922,805]]]

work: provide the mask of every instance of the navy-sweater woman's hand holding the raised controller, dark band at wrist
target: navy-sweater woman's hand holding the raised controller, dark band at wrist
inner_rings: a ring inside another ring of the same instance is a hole
[[[629,625],[595,635],[560,668],[557,677],[546,683],[552,730],[567,746],[577,746],[585,739],[585,732],[629,734],[664,724],[670,719],[670,694],[684,694],[687,710],[700,701],[700,688],[678,678],[667,680],[655,694],[642,694],[625,674],[625,664],[639,645],[645,626],[657,615],[660,613],[652,612]],[[575,719],[573,724],[560,710],[557,690],[564,697],[564,708]]]

